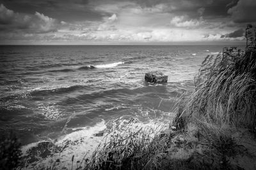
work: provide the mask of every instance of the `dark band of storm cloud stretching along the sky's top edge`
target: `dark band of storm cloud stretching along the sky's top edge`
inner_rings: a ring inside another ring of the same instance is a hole
[[[72,20],[100,20],[106,13],[93,10],[97,4],[109,3],[115,6],[116,3],[127,0],[0,0],[7,8],[21,13],[45,13],[52,18],[71,22]],[[127,2],[136,3],[142,8],[153,7],[157,4],[166,6],[164,12],[175,13],[177,15],[189,15],[191,18],[198,17],[197,10],[204,8],[205,17],[227,16],[228,9],[235,6],[237,1],[233,0],[130,0]]]

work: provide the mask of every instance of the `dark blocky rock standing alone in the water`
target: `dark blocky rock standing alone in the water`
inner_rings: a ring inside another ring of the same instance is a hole
[[[145,74],[145,80],[150,83],[166,83],[168,76],[158,71],[153,71]]]

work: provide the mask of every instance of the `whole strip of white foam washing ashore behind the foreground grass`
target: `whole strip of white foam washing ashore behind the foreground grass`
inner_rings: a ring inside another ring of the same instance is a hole
[[[103,136],[95,136],[98,132],[106,131],[107,126],[111,127],[108,129],[108,133],[104,133]],[[99,122],[93,127],[81,127],[79,131],[72,132],[55,141],[55,145],[58,147],[63,147],[60,153],[56,153],[53,156],[49,156],[45,159],[40,159],[37,162],[33,162],[33,166],[30,164],[26,169],[44,169],[47,166],[52,166],[57,159],[60,159],[60,164],[57,168],[67,167],[71,169],[72,166],[72,156],[74,155],[74,167],[76,167],[76,162],[90,157],[93,151],[99,146],[100,143],[104,143],[109,140],[109,137],[113,134],[120,133],[123,136],[129,135],[129,132],[136,132],[141,129],[141,131],[150,134],[150,137],[154,136],[163,129],[163,127],[168,127],[167,124],[163,124],[161,121],[150,120],[148,122],[140,122],[134,118],[118,118],[117,120],[112,120],[106,123],[104,120]],[[128,131],[124,130],[129,129]],[[125,134],[126,133],[126,134]],[[42,141],[40,141],[42,142]],[[29,145],[22,147],[22,153],[26,152],[33,147],[36,147],[38,143],[31,143]],[[83,166],[83,165],[82,165]]]

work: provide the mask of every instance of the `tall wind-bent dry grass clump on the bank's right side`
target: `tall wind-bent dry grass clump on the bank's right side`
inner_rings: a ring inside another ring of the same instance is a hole
[[[220,160],[218,168],[228,167],[227,157],[236,154],[232,132],[237,127],[256,130],[256,50],[243,55],[225,50],[216,59],[205,59],[195,92],[180,100],[173,121],[184,131],[190,124],[198,127],[205,154]]]

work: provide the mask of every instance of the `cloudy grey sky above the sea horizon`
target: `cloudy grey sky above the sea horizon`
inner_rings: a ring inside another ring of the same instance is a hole
[[[241,44],[255,9],[256,0],[0,0],[0,44]]]

